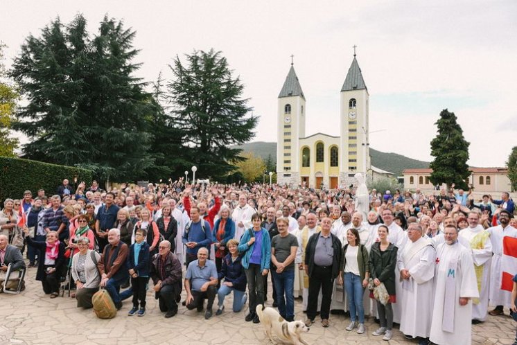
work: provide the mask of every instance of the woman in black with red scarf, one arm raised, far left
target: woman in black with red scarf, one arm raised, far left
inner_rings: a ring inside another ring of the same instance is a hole
[[[28,235],[28,228],[24,229]],[[41,281],[43,291],[51,294],[51,299],[59,296],[59,283],[64,265],[64,242],[59,240],[56,231],[46,233],[46,242],[35,241],[26,236],[27,244],[40,251],[36,280]]]

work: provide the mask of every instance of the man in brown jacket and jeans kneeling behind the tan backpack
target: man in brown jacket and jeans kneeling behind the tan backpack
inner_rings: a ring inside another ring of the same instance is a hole
[[[119,229],[107,232],[108,245],[104,247],[97,267],[101,276],[100,287],[105,288],[112,297],[117,310],[122,308],[119,294],[121,285],[128,278],[128,245],[121,241]]]

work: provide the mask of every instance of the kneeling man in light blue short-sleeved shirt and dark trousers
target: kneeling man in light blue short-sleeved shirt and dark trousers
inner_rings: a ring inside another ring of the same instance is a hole
[[[218,274],[216,264],[208,258],[208,249],[198,249],[198,260],[193,260],[186,269],[185,291],[186,308],[198,312],[203,310],[204,299],[207,299],[207,312],[204,319],[212,317],[213,301],[216,299]]]

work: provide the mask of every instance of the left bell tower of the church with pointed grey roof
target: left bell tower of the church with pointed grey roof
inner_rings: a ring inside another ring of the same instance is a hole
[[[278,96],[277,183],[297,186],[300,183],[299,138],[305,136],[306,107],[292,57],[289,73]]]

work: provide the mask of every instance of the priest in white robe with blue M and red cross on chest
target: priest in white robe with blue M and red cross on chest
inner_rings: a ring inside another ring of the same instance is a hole
[[[457,241],[453,225],[444,229],[445,243],[436,250],[435,297],[430,341],[439,345],[472,342],[472,301],[479,298],[471,251]]]

